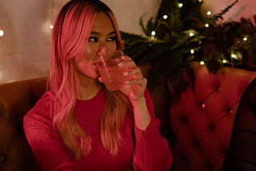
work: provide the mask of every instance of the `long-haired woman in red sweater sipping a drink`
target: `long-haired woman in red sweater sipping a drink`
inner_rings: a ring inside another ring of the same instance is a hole
[[[114,14],[98,0],[71,0],[52,34],[48,91],[24,117],[24,129],[42,170],[169,170],[172,156],[134,61],[131,77],[106,89],[94,58],[123,50]]]

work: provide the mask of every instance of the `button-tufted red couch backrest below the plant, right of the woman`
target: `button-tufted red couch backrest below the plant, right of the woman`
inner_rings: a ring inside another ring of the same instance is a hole
[[[226,157],[238,102],[256,72],[226,67],[210,74],[198,63],[193,68],[194,89],[189,82],[170,105],[172,169],[217,171]]]

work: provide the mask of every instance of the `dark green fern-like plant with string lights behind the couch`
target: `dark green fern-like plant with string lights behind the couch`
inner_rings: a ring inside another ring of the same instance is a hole
[[[240,22],[224,22],[222,18],[238,0],[210,18],[202,17],[202,1],[179,2],[182,8],[177,0],[162,0],[157,16],[146,26],[141,18],[143,35],[122,32],[125,53],[138,65],[152,65],[149,86],[161,83],[161,77],[170,78],[181,92],[186,88],[182,74],[187,72],[193,79],[191,62],[204,62],[212,73],[222,66],[254,69],[256,28],[246,18]]]

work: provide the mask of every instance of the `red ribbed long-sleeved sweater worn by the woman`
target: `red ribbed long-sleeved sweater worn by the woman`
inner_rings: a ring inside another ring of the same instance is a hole
[[[150,125],[145,131],[138,129],[134,126],[133,113],[128,113],[122,147],[114,157],[102,147],[99,131],[105,104],[103,91],[90,100],[77,100],[77,121],[92,137],[92,151],[74,161],[53,129],[54,95],[46,92],[23,120],[26,138],[42,170],[170,170],[173,159],[169,145],[158,131],[160,122],[154,117],[154,106],[147,90],[145,96],[152,116]]]

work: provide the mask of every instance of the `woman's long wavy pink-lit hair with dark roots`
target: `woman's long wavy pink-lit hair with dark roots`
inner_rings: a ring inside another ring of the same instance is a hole
[[[78,92],[75,58],[83,54],[94,17],[106,13],[114,25],[117,49],[123,50],[122,38],[113,12],[99,0],[67,2],[54,24],[50,75],[47,88],[54,93],[54,129],[67,149],[78,160],[92,150],[91,139],[76,121],[74,106]],[[100,132],[102,145],[111,155],[122,145],[122,128],[131,109],[128,98],[119,91],[108,91],[102,85],[106,106],[102,113]]]

